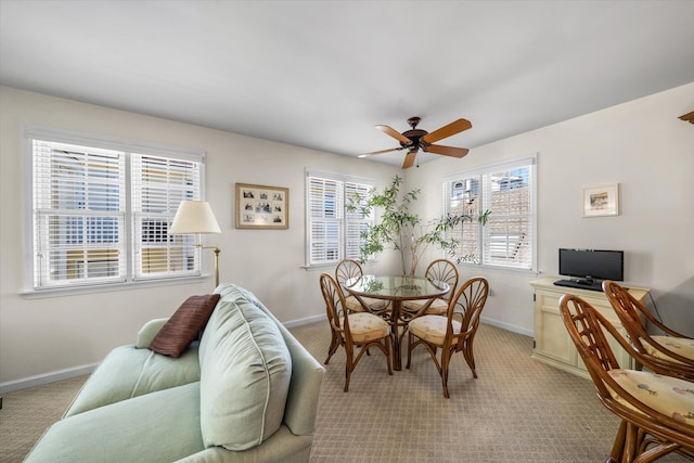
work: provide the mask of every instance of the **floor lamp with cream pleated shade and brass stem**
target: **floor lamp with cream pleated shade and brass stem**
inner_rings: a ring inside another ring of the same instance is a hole
[[[178,206],[169,234],[194,234],[194,246],[200,249],[213,249],[215,253],[215,287],[219,286],[219,247],[203,246],[202,233],[221,233],[217,219],[206,201],[182,201]]]

